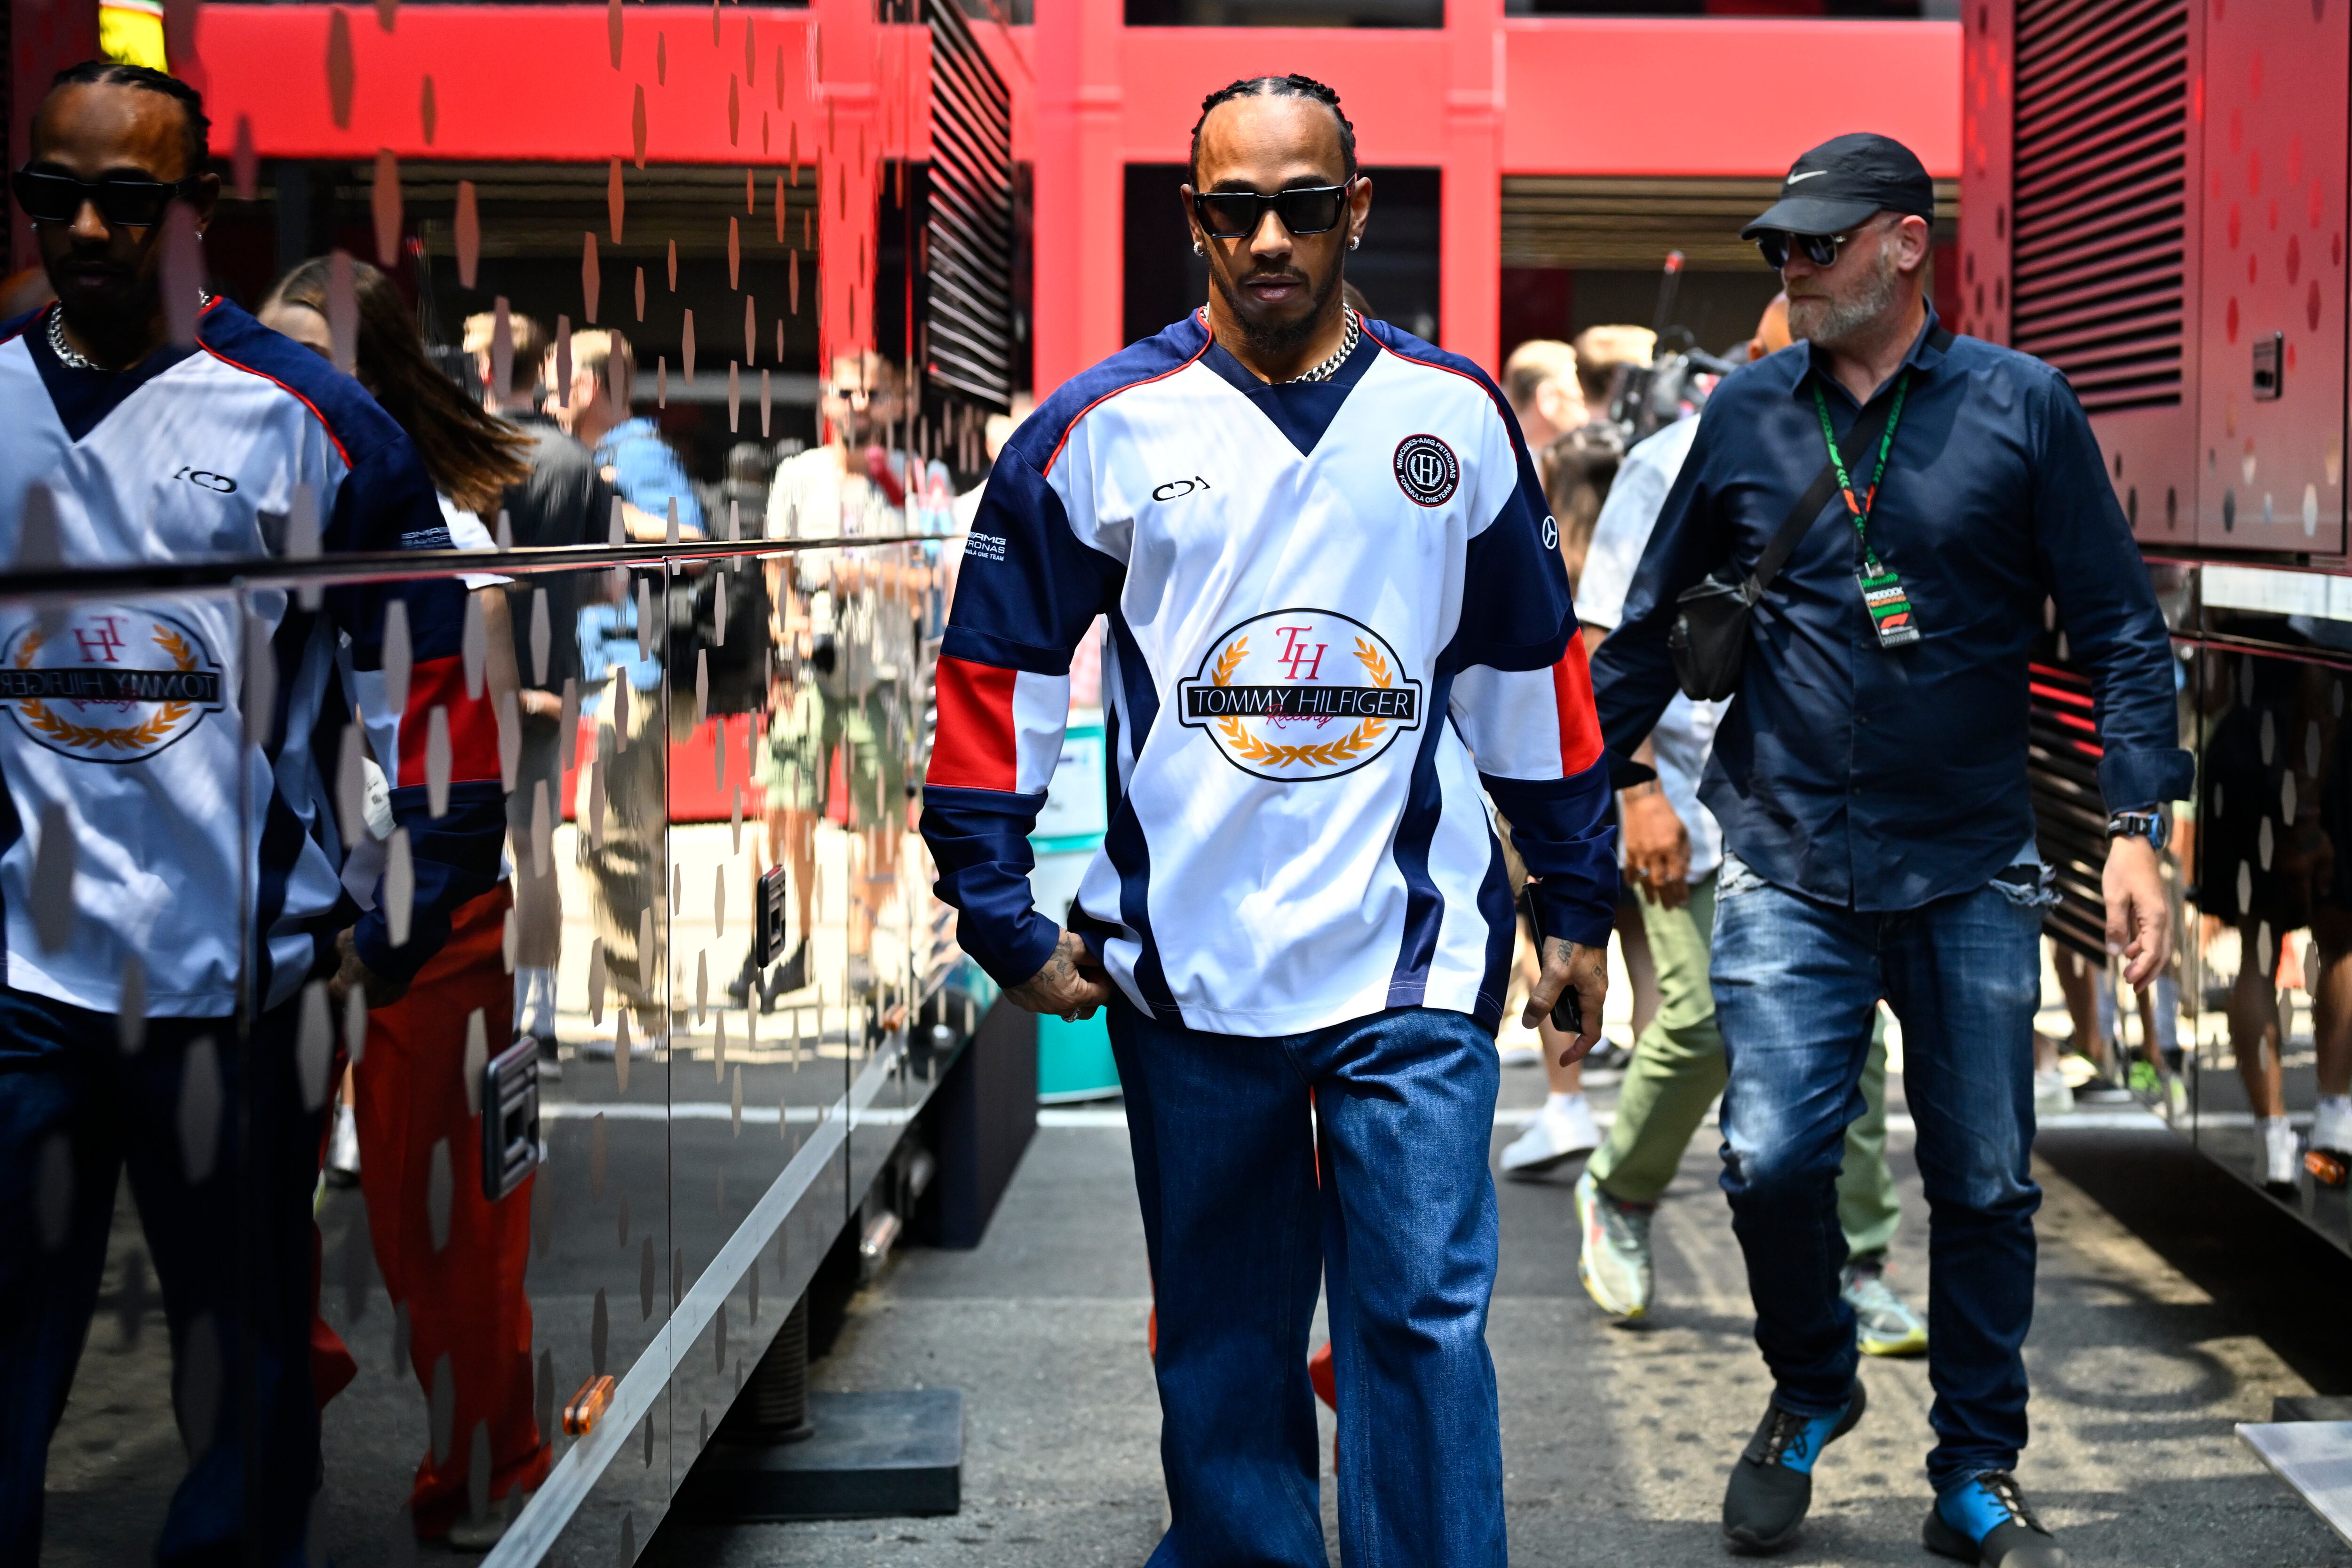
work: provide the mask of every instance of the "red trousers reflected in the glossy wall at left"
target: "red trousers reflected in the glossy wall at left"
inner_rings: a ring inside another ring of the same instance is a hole
[[[515,1039],[515,978],[506,973],[506,884],[456,912],[449,945],[409,994],[367,1016],[355,1072],[360,1194],[376,1269],[409,1312],[409,1363],[426,1399],[449,1361],[456,1418],[449,1453],[416,1465],[409,1514],[433,1540],[466,1514],[475,1429],[489,1427],[489,1495],[536,1488],[550,1448],[532,1410],[532,1302],[522,1272],[532,1251],[532,1180],[496,1204],[482,1199],[482,1121],[466,1103],[466,1020],[482,1011],[496,1056]],[[449,1145],[449,1229],[433,1246],[433,1150]]]

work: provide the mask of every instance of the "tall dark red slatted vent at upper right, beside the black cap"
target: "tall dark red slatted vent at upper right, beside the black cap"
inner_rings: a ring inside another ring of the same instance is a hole
[[[2176,407],[2187,0],[2020,0],[2011,346],[2093,414]]]

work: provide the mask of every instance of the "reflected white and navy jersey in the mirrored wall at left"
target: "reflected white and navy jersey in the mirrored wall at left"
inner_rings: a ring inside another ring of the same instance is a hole
[[[358,381],[228,301],[195,336],[108,374],[68,369],[38,313],[0,324],[0,559],[16,559],[35,508],[66,567],[282,555],[301,515],[325,552],[449,548],[416,449]],[[383,679],[395,599],[414,654],[397,708]],[[329,588],[318,611],[280,590],[0,604],[7,985],[113,1013],[136,957],[148,1013],[216,1018],[247,978],[261,1006],[292,997],[332,966],[346,926],[369,969],[414,976],[449,914],[494,886],[506,830],[487,686],[466,693],[463,607],[454,578]],[[249,693],[268,696],[259,741]],[[400,945],[381,889],[362,914],[339,882],[334,778],[353,703],[407,830]],[[440,726],[449,799],[435,818]],[[42,943],[33,870],[56,830],[73,835],[73,917]]]

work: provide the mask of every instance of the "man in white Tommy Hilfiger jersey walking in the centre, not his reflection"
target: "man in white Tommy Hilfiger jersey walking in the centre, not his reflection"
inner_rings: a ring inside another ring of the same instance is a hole
[[[1327,1561],[1319,1281],[1341,1552],[1501,1563],[1486,1152],[1515,914],[1484,795],[1548,933],[1529,1020],[1573,987],[1576,1056],[1616,893],[1557,527],[1496,386],[1343,308],[1371,181],[1329,87],[1211,94],[1181,197],[1207,310],[1068,381],[988,480],[922,827],[1014,1001],[1110,1006],[1160,1309],[1152,1563]],[[1025,832],[1096,614],[1110,832],[1063,931]]]

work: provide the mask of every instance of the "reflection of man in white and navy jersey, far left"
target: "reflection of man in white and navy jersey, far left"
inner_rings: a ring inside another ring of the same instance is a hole
[[[33,118],[12,188],[56,303],[0,322],[0,559],[447,550],[383,409],[200,294],[205,141],[193,89],[106,61]],[[463,604],[456,578],[315,609],[275,588],[0,604],[0,1561],[40,1556],[125,1166],[191,1455],[158,1561],[306,1561],[332,1041],[301,1020],[353,990],[393,1001],[496,882],[499,743]],[[397,825],[365,912],[336,816],[360,797],[339,790],[360,783],[355,722]]]

